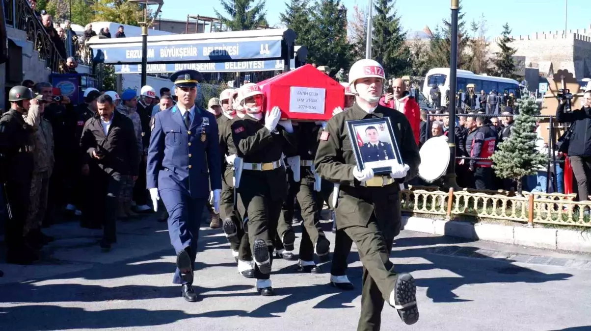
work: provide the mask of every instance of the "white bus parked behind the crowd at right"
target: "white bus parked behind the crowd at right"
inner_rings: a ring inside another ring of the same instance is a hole
[[[466,92],[467,84],[474,84],[476,86],[474,89],[476,94],[480,94],[481,90],[484,90],[486,94],[495,90],[497,93],[501,93],[501,95],[507,91],[508,93],[512,92],[517,99],[521,97],[519,82],[511,78],[477,75],[472,71],[458,69],[456,82],[456,91],[462,90],[463,92]],[[445,96],[447,91],[449,91],[449,83],[449,68],[433,68],[427,72],[427,76],[425,77],[423,95],[427,97],[429,101],[432,101],[430,91],[433,86],[437,85],[441,92],[441,104],[436,105],[436,107],[445,106]]]

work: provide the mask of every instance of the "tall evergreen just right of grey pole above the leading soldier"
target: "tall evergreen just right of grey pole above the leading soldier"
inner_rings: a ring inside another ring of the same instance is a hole
[[[376,0],[374,3],[372,57],[382,64],[388,76],[398,77],[410,70],[411,53],[405,43],[406,32],[402,31],[395,4],[395,0]]]

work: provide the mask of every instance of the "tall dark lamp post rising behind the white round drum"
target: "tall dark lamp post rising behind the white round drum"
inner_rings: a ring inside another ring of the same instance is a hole
[[[456,183],[456,86],[457,86],[457,14],[460,10],[459,0],[452,0],[452,54],[449,64],[449,165],[444,176],[446,188],[459,189]]]

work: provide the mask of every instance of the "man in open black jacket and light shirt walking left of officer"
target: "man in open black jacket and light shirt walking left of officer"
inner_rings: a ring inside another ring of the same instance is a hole
[[[110,250],[111,244],[117,242],[115,220],[121,176],[137,179],[139,150],[134,124],[124,114],[115,112],[113,99],[103,94],[96,100],[96,106],[96,115],[84,125],[80,148],[87,154],[83,172],[89,170],[89,163],[101,170],[96,173],[99,179],[94,181],[96,185],[89,189],[99,192],[93,212],[103,220],[100,247]]]

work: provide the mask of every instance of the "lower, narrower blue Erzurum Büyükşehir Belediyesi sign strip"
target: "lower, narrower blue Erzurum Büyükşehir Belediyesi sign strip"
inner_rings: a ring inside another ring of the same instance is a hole
[[[146,73],[174,73],[178,70],[192,69],[200,73],[241,73],[251,71],[275,71],[283,70],[283,60],[262,60],[262,61],[242,61],[225,63],[165,63],[148,64]],[[142,72],[141,64],[115,64],[116,74],[140,74]],[[290,61],[290,68],[296,67],[296,60]]]

